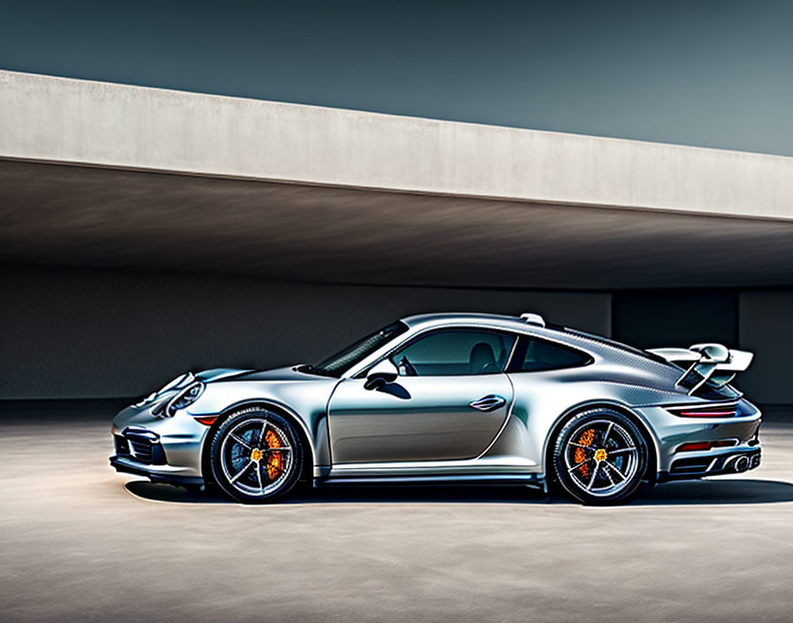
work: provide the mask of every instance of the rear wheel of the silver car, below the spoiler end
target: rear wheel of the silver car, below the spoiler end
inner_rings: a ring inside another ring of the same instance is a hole
[[[647,458],[647,443],[633,421],[607,408],[575,415],[553,448],[559,484],[583,504],[619,504],[635,496]]]

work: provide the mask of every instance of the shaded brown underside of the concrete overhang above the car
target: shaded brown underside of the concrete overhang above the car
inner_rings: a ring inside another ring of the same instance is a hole
[[[793,285],[793,222],[0,160],[0,258],[296,281]]]

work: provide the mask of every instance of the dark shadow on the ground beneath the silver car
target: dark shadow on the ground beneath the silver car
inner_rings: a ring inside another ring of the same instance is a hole
[[[236,504],[221,493],[188,491],[150,481],[129,481],[127,491],[153,502]],[[793,502],[793,484],[743,478],[681,481],[643,488],[628,506],[774,504]],[[280,504],[574,504],[566,496],[531,487],[358,487],[299,488]]]

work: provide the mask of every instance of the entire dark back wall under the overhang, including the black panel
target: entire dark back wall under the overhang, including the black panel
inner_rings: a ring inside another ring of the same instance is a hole
[[[423,311],[538,311],[642,348],[755,352],[736,384],[793,404],[793,290],[551,292],[0,265],[0,400],[138,396],[188,369],[314,362]]]

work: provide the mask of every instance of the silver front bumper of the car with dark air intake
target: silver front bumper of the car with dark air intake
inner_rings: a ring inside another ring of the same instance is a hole
[[[146,406],[129,406],[113,419],[115,451],[110,463],[118,472],[147,476],[151,481],[201,484],[208,430],[183,411],[172,418],[158,418]]]

